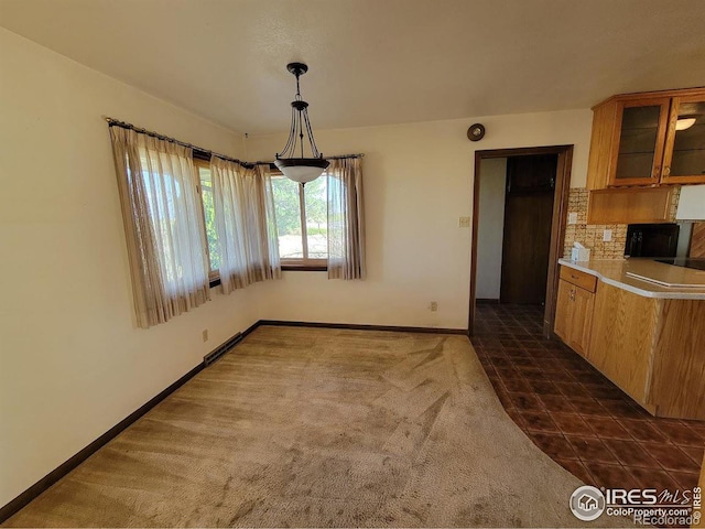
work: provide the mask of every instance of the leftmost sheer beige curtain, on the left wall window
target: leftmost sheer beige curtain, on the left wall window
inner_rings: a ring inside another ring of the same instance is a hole
[[[150,327],[210,299],[192,151],[110,127],[137,322]]]

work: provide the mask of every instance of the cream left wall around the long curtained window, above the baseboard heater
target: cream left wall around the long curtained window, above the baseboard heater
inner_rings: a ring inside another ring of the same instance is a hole
[[[252,287],[135,328],[102,115],[243,151],[239,134],[0,29],[0,506],[258,317]]]

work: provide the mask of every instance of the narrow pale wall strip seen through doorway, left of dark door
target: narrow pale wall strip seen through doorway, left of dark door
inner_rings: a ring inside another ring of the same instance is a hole
[[[507,159],[480,162],[480,218],[477,230],[477,290],[479,300],[499,300],[505,238]]]

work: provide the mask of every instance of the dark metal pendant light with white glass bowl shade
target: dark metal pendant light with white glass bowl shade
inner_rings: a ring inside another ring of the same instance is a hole
[[[313,130],[308,120],[308,104],[301,97],[299,78],[308,72],[308,66],[303,63],[290,63],[286,69],[296,77],[296,99],[291,102],[291,129],[289,140],[282,152],[276,154],[274,165],[289,180],[305,184],[316,180],[328,166],[328,161],[323,159],[313,139]],[[308,138],[311,158],[304,158],[304,133]],[[295,158],[301,154],[301,158]]]

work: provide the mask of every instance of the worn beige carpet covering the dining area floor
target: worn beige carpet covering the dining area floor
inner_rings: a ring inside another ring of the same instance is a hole
[[[579,485],[466,337],[260,327],[6,526],[579,527]]]

